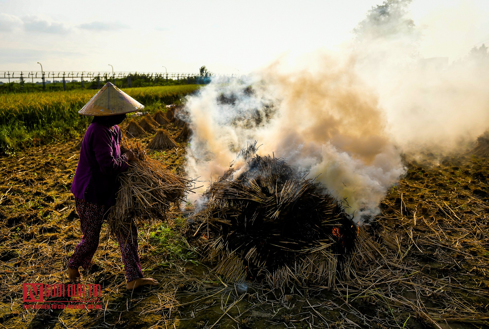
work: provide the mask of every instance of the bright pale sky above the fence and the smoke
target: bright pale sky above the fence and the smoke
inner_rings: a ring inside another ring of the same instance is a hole
[[[382,0],[0,0],[0,71],[247,74],[281,56],[339,49]],[[489,0],[414,0],[420,55],[489,44]]]

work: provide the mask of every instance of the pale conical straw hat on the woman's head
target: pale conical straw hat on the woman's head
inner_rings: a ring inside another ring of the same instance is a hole
[[[105,116],[134,112],[143,108],[143,104],[111,82],[107,82],[78,113],[88,116]]]

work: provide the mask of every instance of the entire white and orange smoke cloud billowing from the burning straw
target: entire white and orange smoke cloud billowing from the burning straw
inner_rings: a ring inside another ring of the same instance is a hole
[[[489,126],[489,75],[477,69],[486,49],[472,54],[477,63],[421,59],[409,2],[373,8],[341,54],[318,52],[295,69],[277,61],[241,80],[215,79],[188,98],[189,176],[217,179],[257,141],[259,154],[317,176],[359,221],[378,212],[403,174],[401,152],[446,150],[481,134]]]

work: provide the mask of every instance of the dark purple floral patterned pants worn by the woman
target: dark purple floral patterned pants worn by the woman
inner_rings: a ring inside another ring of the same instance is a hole
[[[105,206],[92,204],[85,200],[75,198],[76,212],[80,216],[80,228],[83,236],[82,241],[75,247],[71,256],[68,267],[87,268],[95,254],[100,238],[100,229],[105,215]],[[118,234],[117,241],[121,250],[122,263],[126,270],[126,280],[133,281],[142,278],[141,264],[137,254],[137,229],[134,224],[131,226],[129,235]]]

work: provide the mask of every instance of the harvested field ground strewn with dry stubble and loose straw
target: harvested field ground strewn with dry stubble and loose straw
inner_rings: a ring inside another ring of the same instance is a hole
[[[182,128],[163,127],[177,147],[148,155],[183,174]],[[189,227],[188,209],[172,208],[167,222],[138,228],[143,273],[158,286],[126,291],[104,224],[82,270],[83,283],[101,286],[100,301],[25,309],[22,284],[68,281],[67,260],[81,237],[69,192],[77,144],[0,159],[1,328],[489,328],[489,164],[469,153],[405,155],[407,175],[382,200],[381,214],[359,227],[356,250],[330,285],[234,283],[212,270],[198,243],[206,236]]]

